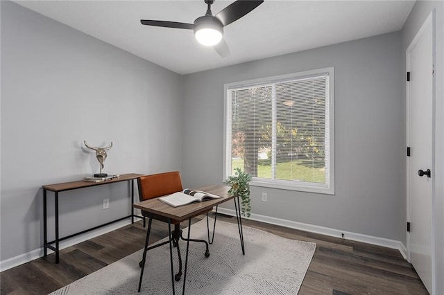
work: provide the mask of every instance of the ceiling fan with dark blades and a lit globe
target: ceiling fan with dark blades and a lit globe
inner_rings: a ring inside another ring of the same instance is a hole
[[[198,17],[194,24],[180,23],[177,21],[154,21],[141,19],[140,23],[146,26],[162,26],[165,28],[184,28],[194,30],[194,36],[200,44],[214,46],[221,57],[230,55],[230,48],[223,39],[223,27],[228,26],[241,17],[244,17],[257,8],[264,0],[237,0],[225,7],[217,15],[212,15],[211,5],[214,0],[204,0],[207,3],[207,12],[203,17]]]

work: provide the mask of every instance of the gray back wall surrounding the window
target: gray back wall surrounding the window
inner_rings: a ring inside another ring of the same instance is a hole
[[[185,181],[223,180],[224,83],[334,66],[336,195],[253,187],[252,213],[398,240],[405,187],[400,51],[400,32],[389,33],[185,75]]]

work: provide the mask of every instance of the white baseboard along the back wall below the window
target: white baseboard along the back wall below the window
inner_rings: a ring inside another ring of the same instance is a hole
[[[227,208],[219,208],[218,213],[236,216],[236,211]],[[265,215],[259,215],[252,213],[248,218],[259,222],[265,222],[268,224],[275,224],[279,226],[289,227],[291,229],[299,229],[301,231],[309,231],[311,233],[319,233],[321,235],[329,235],[336,238],[345,238],[347,240],[353,240],[357,242],[364,242],[368,244],[374,244],[377,246],[387,247],[391,249],[397,249],[400,251],[404,259],[407,258],[407,249],[402,242],[397,240],[390,240],[386,238],[373,237],[371,235],[363,235],[361,233],[352,233],[350,231],[340,231],[339,229],[330,229],[328,227],[317,226],[312,224],[305,224],[301,222],[293,222],[291,220],[283,220],[276,217],[269,217]],[[342,236],[343,235],[343,236]]]

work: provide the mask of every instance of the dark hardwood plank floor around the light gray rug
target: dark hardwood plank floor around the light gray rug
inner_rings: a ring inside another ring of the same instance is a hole
[[[225,215],[217,219],[236,222],[234,217]],[[284,238],[316,242],[299,294],[428,294],[416,271],[397,250],[252,220],[244,220],[243,224]],[[150,242],[166,237],[167,224],[153,221],[151,233]],[[137,222],[63,249],[58,265],[53,263],[55,257],[51,254],[3,271],[1,294],[53,292],[142,249],[145,235],[142,222]]]

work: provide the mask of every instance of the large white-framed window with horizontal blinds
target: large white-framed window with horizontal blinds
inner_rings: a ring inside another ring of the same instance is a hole
[[[334,194],[334,69],[225,84],[224,179]]]

